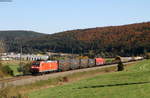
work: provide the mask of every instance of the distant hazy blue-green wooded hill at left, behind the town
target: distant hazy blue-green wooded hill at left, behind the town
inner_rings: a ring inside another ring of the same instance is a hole
[[[29,39],[44,35],[46,34],[24,30],[0,31],[0,40],[5,41],[6,52],[20,52],[21,44],[25,43]]]

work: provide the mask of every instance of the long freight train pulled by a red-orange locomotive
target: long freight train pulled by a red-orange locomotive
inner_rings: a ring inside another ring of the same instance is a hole
[[[142,57],[127,57],[122,58],[122,62],[130,62],[141,60]],[[103,66],[116,64],[117,62],[106,62],[104,58],[95,58],[95,59],[69,59],[69,60],[59,60],[59,61],[33,61],[30,72],[32,74],[43,74],[49,72],[59,72],[59,71],[69,71],[75,69]]]

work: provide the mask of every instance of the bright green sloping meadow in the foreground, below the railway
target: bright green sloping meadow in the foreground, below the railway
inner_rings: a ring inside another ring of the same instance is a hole
[[[123,72],[46,88],[28,95],[30,98],[149,98],[150,60],[141,61]]]

